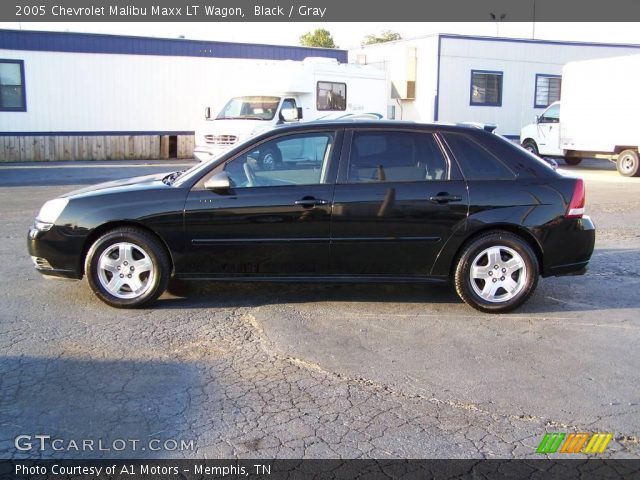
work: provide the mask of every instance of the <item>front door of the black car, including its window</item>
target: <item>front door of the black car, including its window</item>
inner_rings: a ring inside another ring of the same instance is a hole
[[[198,182],[186,202],[184,274],[326,274],[338,137],[333,130],[279,136]],[[261,161],[267,152],[273,163]],[[231,188],[204,188],[204,181],[221,170]]]

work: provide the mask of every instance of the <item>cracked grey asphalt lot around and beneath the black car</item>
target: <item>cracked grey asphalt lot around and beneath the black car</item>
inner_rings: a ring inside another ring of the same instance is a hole
[[[640,457],[640,179],[561,165],[586,180],[589,272],[508,315],[421,285],[187,284],[115,310],[32,268],[45,200],[189,164],[0,165],[0,458],[522,458],[556,431]],[[39,434],[62,449],[16,448]]]

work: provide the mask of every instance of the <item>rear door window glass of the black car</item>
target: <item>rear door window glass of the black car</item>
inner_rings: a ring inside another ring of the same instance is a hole
[[[349,183],[445,180],[447,162],[431,133],[355,132]]]

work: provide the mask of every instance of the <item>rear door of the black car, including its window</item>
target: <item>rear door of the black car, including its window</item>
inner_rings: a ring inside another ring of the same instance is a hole
[[[427,275],[464,225],[465,182],[432,131],[345,134],[331,219],[330,270],[338,275]]]

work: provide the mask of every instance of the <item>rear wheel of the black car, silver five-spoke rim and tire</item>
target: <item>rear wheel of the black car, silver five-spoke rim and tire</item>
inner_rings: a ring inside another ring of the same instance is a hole
[[[455,287],[460,298],[482,312],[518,308],[538,283],[535,253],[521,237],[488,232],[472,240],[459,256]]]

